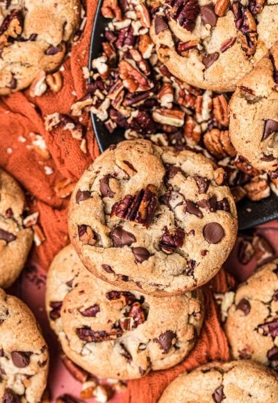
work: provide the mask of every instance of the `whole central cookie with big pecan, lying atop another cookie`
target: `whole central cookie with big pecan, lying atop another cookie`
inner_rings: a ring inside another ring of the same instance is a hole
[[[192,290],[226,260],[237,231],[224,171],[193,151],[126,140],[72,193],[69,231],[88,270],[157,296]]]

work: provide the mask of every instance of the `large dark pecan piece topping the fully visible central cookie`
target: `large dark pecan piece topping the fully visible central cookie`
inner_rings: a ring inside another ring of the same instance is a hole
[[[155,186],[148,185],[135,196],[126,195],[124,199],[117,201],[112,207],[111,218],[116,216],[149,227],[149,223],[154,217],[157,201],[158,191]]]

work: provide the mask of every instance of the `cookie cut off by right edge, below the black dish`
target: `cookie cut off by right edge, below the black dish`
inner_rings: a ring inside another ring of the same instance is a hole
[[[263,265],[236,291],[225,331],[234,359],[278,370],[278,260]]]

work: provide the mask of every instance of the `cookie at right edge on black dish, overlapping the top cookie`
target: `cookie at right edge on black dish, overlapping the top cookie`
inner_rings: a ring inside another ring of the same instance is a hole
[[[238,153],[278,177],[278,42],[234,92],[229,133]]]

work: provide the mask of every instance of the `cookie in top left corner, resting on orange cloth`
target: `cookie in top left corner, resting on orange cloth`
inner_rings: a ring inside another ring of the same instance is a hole
[[[79,26],[79,0],[0,2],[0,95],[45,85]],[[39,89],[37,89],[39,92]]]

